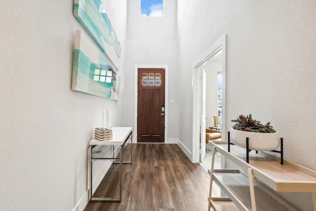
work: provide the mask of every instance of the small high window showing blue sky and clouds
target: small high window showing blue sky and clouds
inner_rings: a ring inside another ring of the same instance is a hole
[[[163,0],[140,0],[140,16],[163,17]]]

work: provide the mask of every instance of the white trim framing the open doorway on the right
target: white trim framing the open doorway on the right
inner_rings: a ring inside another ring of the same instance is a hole
[[[193,137],[192,137],[192,162],[199,162],[199,125],[197,125],[200,120],[199,109],[197,104],[197,84],[198,76],[197,69],[205,61],[214,56],[219,50],[222,50],[222,74],[223,74],[223,84],[222,84],[222,139],[226,140],[227,133],[227,100],[226,100],[226,74],[227,74],[227,35],[214,42],[208,50],[201,54],[201,56],[193,63]]]

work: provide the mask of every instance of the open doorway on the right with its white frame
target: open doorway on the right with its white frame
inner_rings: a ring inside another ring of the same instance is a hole
[[[214,43],[204,56],[194,63],[192,150],[194,163],[203,161],[205,157],[206,128],[214,127],[215,119],[220,127],[213,129],[221,131],[221,139],[226,140],[226,37],[225,35],[223,39]],[[215,68],[219,65],[220,71],[218,67]],[[211,84],[216,88],[207,91],[207,86]],[[218,90],[219,84],[221,84],[221,90]],[[210,94],[211,92],[213,94]]]

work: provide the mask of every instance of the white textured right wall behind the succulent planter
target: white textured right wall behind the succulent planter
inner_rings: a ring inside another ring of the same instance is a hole
[[[271,122],[284,138],[284,158],[316,170],[315,23],[315,0],[178,0],[179,90],[187,93],[180,114],[192,113],[192,63],[227,34],[227,119]],[[184,118],[179,136],[192,134],[192,115]],[[192,146],[191,136],[185,144]],[[305,196],[287,200],[312,210]]]

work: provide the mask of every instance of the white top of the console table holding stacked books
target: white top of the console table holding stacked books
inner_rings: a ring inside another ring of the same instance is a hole
[[[111,140],[99,141],[97,139],[90,140],[90,145],[121,145],[133,130],[133,127],[112,127],[113,138]]]

